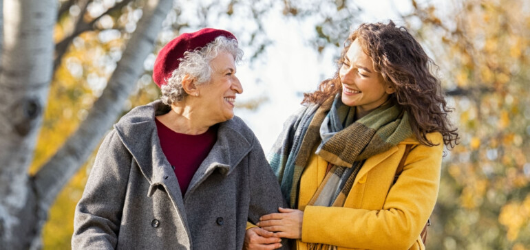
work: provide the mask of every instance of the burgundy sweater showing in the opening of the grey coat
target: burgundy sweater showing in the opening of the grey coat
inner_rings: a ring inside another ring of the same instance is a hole
[[[162,152],[173,167],[180,192],[184,196],[193,174],[217,141],[218,126],[211,126],[206,133],[200,135],[186,135],[176,133],[157,119],[155,121]]]

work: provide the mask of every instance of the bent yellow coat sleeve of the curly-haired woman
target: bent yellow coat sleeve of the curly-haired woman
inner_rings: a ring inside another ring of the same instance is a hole
[[[438,196],[443,141],[438,133],[431,141],[438,146],[411,150],[383,209],[307,206],[301,240],[355,249],[409,249]]]

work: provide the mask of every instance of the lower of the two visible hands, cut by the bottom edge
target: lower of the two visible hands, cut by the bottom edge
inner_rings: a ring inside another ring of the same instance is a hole
[[[282,247],[280,243],[282,239],[274,237],[274,234],[259,227],[252,227],[246,229],[245,241],[243,244],[244,250],[269,250],[279,249]]]

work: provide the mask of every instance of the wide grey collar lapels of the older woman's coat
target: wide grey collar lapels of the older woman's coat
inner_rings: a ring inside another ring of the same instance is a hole
[[[180,194],[179,186],[175,185],[177,181],[173,168],[160,147],[155,123],[155,115],[162,115],[170,110],[171,108],[160,100],[138,106],[124,115],[114,128],[140,166],[142,174],[151,183],[151,187],[163,184]],[[222,174],[230,174],[254,143],[254,137],[245,136],[246,130],[249,130],[248,127],[239,117],[219,124],[218,139],[195,172],[188,190],[195,188],[217,168]],[[149,195],[152,192],[154,190],[150,190]]]

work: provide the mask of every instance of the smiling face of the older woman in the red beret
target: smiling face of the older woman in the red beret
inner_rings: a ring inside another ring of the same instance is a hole
[[[198,85],[201,106],[211,113],[213,120],[224,122],[234,116],[235,94],[243,93],[243,87],[235,76],[232,54],[220,52],[210,65],[211,81]]]

